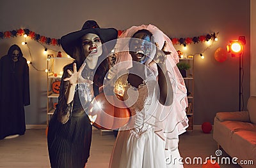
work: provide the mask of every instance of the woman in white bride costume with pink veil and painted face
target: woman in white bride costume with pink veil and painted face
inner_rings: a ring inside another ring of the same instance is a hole
[[[172,41],[154,25],[133,26],[116,52],[118,75],[110,78],[132,116],[118,132],[109,167],[183,167],[178,143],[188,127],[188,99]]]

